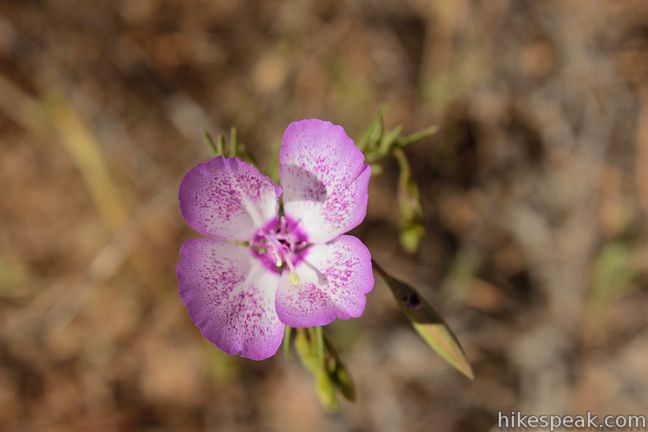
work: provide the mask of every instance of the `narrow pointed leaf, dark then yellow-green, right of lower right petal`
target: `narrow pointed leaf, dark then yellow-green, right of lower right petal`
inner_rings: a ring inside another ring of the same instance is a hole
[[[385,280],[400,309],[427,344],[466,377],[474,374],[463,349],[441,315],[408,284],[394,278],[372,260],[376,272]]]

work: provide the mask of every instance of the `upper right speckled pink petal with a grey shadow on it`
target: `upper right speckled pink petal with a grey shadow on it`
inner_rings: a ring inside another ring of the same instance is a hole
[[[280,151],[286,215],[324,243],[362,222],[371,170],[344,129],[310,119],[291,123]]]

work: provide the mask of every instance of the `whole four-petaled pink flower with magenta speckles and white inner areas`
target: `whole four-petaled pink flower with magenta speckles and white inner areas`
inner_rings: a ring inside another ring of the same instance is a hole
[[[193,167],[178,194],[182,217],[206,236],[180,250],[182,301],[206,339],[254,360],[277,352],[284,325],[359,317],[374,284],[369,250],[343,235],[365,217],[371,175],[353,140],[330,122],[296,121],[279,159],[283,189],[218,156]]]

